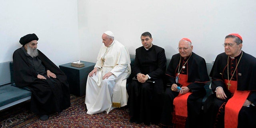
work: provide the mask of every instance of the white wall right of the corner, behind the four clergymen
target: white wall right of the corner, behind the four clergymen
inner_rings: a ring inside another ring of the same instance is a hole
[[[150,32],[153,44],[178,53],[181,38],[190,38],[193,52],[212,62],[224,52],[224,38],[239,33],[245,52],[256,56],[255,0],[78,0],[81,60],[96,62],[101,36],[111,30],[130,54]]]

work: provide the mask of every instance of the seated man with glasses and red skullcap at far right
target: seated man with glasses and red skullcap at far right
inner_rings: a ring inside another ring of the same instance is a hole
[[[210,73],[205,128],[256,128],[256,58],[241,50],[239,34],[226,36],[223,46]]]

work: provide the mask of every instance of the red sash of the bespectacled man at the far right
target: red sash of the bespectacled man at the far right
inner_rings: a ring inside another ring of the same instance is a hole
[[[225,80],[228,87],[228,80]],[[250,91],[238,91],[237,81],[230,81],[230,92],[234,95],[230,98],[225,106],[224,124],[225,128],[237,128],[238,114]]]

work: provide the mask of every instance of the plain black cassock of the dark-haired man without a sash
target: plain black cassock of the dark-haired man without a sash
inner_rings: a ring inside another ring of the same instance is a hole
[[[128,101],[130,116],[137,122],[157,124],[160,119],[161,94],[163,92],[163,76],[166,70],[166,56],[164,49],[152,45],[146,50],[143,46],[136,49],[133,73],[148,74],[150,80],[155,81],[140,83],[132,80],[128,86]],[[131,118],[131,119],[132,119]]]

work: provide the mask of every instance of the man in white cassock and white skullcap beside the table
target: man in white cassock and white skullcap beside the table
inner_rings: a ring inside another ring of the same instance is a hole
[[[97,114],[127,105],[126,79],[131,73],[130,55],[110,31],[102,34],[97,62],[86,83],[87,114]]]

